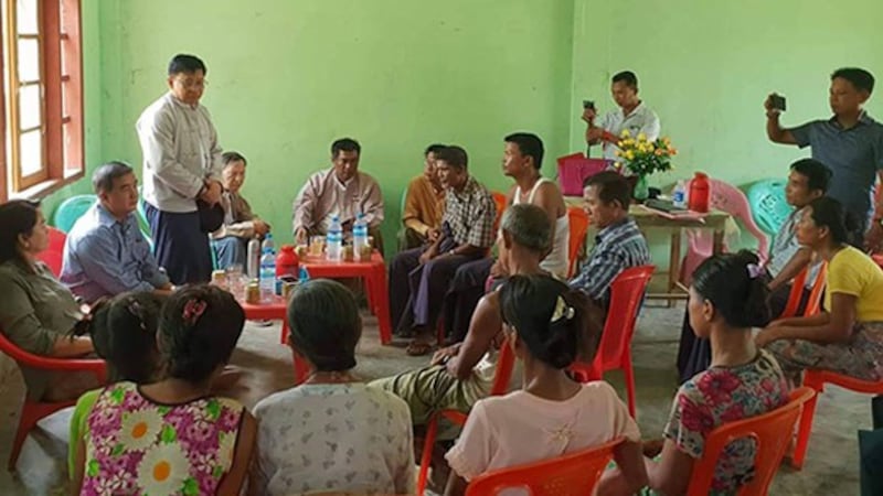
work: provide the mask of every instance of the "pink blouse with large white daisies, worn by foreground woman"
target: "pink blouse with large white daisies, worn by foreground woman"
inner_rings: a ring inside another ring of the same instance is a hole
[[[244,412],[225,398],[160,405],[135,384],[109,386],[87,419],[81,494],[215,494],[233,464]]]

